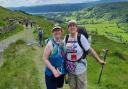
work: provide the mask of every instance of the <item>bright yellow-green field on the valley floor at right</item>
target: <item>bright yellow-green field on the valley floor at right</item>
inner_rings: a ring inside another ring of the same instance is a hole
[[[117,24],[86,24],[85,28],[88,31],[97,32],[97,34],[104,35],[114,41],[121,43],[126,42],[128,44],[128,33],[122,30],[121,28],[118,28]]]

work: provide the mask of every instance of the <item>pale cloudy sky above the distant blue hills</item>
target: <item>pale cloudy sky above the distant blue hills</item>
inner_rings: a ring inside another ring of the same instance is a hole
[[[46,4],[63,4],[63,3],[82,3],[99,0],[0,0],[0,6],[3,7],[20,7],[35,6]]]

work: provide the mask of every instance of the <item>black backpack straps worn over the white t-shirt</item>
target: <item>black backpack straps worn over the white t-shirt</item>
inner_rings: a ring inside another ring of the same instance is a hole
[[[67,42],[68,42],[68,38],[69,38],[69,35],[66,35],[66,38],[65,38],[65,43],[66,43],[66,44],[67,44]],[[83,50],[83,55],[82,55],[82,57],[81,57],[80,59],[85,59],[86,56],[88,55],[88,51],[85,51],[83,45],[81,44],[80,38],[81,38],[81,34],[78,33],[78,34],[77,34],[77,41],[78,41],[79,46],[80,46],[81,49]]]

